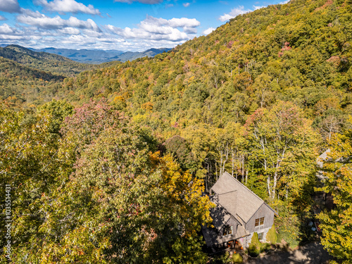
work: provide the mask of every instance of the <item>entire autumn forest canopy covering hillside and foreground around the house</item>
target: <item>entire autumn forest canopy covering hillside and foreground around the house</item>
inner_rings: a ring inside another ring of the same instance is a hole
[[[305,223],[315,188],[344,189],[320,219],[332,234],[322,244],[347,261],[351,8],[291,0],[154,58],[72,76],[51,70],[72,64],[54,57],[2,58],[1,188],[13,186],[15,263],[205,263],[198,232],[213,205],[201,194],[225,170],[277,210],[292,247],[314,237]],[[316,158],[328,147],[321,187]]]

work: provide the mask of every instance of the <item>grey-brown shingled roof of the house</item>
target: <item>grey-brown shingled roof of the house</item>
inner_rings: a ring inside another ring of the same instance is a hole
[[[264,203],[228,172],[224,172],[211,189],[218,194],[220,205],[232,215],[238,215],[244,222],[248,222]]]

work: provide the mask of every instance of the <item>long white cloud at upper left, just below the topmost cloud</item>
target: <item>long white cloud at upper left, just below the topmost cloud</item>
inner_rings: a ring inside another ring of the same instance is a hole
[[[90,18],[84,21],[71,16],[65,20],[58,15],[56,15],[54,18],[51,18],[49,16],[43,15],[42,13],[39,13],[39,11],[34,12],[27,9],[23,9],[23,13],[18,15],[17,20],[20,23],[32,25],[46,30],[58,30],[65,27],[76,27],[79,29],[95,30],[96,32],[101,31],[98,25],[96,25],[96,23]]]

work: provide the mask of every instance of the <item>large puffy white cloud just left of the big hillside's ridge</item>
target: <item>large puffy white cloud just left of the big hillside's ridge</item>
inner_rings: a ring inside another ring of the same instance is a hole
[[[125,29],[122,29],[113,25],[108,25],[107,28],[125,39],[165,39],[172,42],[180,42],[193,37],[189,34],[196,34],[196,27],[199,25],[201,23],[195,18],[172,18],[166,20],[147,15],[146,19],[139,23],[137,28],[125,27]]]

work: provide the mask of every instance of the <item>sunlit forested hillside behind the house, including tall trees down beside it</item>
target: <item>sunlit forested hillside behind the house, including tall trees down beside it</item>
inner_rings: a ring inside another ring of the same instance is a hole
[[[58,95],[76,106],[107,98],[168,139],[206,188],[230,171],[276,205],[295,244],[309,236],[300,222],[311,217],[315,159],[352,111],[351,3],[261,8],[167,54],[65,79]]]

